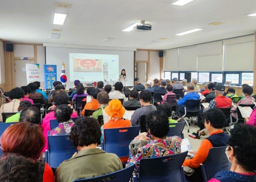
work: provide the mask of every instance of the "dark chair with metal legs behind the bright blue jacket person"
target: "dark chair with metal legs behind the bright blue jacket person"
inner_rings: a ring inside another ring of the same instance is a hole
[[[190,126],[190,123],[192,121],[193,118],[197,117],[198,116],[198,113],[200,112],[201,110],[201,106],[200,106],[200,99],[198,100],[191,100],[191,99],[188,99],[186,100],[186,103],[184,105],[177,105],[177,107],[182,107],[184,106],[184,115],[182,116],[179,112],[179,109],[177,109],[177,113],[179,114],[180,118],[177,119],[177,121],[179,121],[180,119],[184,119],[187,126],[188,126],[188,132],[189,132],[189,126]],[[190,117],[189,119],[189,122],[187,122],[187,120],[185,119],[185,117]]]

